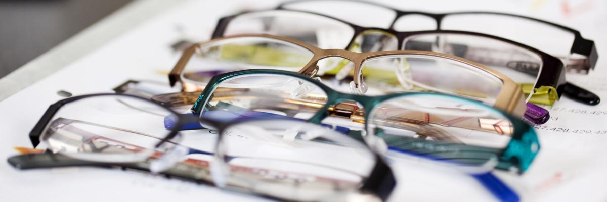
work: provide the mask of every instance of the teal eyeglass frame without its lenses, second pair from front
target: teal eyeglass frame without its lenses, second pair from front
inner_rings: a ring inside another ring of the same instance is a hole
[[[378,54],[378,53],[375,53],[375,54]],[[325,86],[325,84],[322,84],[322,82],[320,82],[320,81],[316,81],[315,79],[311,79],[305,75],[302,75],[302,74],[296,73],[296,72],[289,72],[289,71],[284,71],[284,70],[273,70],[273,69],[248,69],[248,70],[238,70],[235,72],[222,73],[220,75],[213,76],[211,78],[211,80],[208,82],[205,89],[203,89],[202,93],[200,93],[200,96],[198,97],[198,100],[196,101],[196,103],[194,103],[194,105],[192,106],[191,113],[198,114],[198,115],[200,115],[202,113],[202,109],[204,107],[203,105],[208,103],[208,99],[210,97],[210,96],[205,96],[205,95],[212,95],[211,92],[214,91],[222,81],[225,81],[226,79],[234,78],[236,76],[254,75],[254,74],[275,74],[275,75],[283,75],[283,76],[293,76],[294,78],[298,78],[298,79],[302,79],[307,82],[311,82],[312,84],[315,84],[317,87],[320,87],[320,89],[323,90],[327,94],[327,102],[324,104],[324,106],[321,109],[318,110],[318,112],[316,112],[313,116],[311,116],[310,119],[308,119],[308,121],[310,121],[311,123],[316,123],[316,124],[320,124],[322,120],[324,120],[325,118],[328,117],[327,112],[329,111],[329,108],[331,106],[334,106],[342,101],[347,101],[347,100],[356,101],[358,103],[361,103],[362,106],[364,106],[365,112],[371,112],[373,110],[373,107],[375,107],[378,103],[381,103],[382,101],[392,99],[392,98],[411,96],[411,95],[440,95],[440,96],[446,96],[446,97],[450,97],[450,98],[464,100],[467,102],[472,102],[475,104],[484,105],[482,103],[473,101],[472,99],[466,99],[466,98],[462,98],[459,96],[453,96],[453,95],[447,95],[447,94],[441,94],[441,93],[431,93],[431,92],[393,93],[393,94],[382,95],[382,96],[354,95],[354,94],[337,92],[336,90],[333,90],[328,86]],[[495,109],[493,107],[489,107],[489,108]],[[507,144],[506,148],[504,148],[501,153],[495,153],[495,155],[499,158],[498,161],[500,161],[500,163],[498,163],[498,165],[497,165],[497,168],[504,169],[504,170],[515,169],[515,170],[518,170],[518,173],[523,173],[525,170],[527,170],[529,168],[529,166],[531,165],[531,162],[535,158],[535,155],[537,155],[537,152],[540,150],[540,143],[538,141],[537,134],[535,133],[535,130],[531,126],[527,125],[526,123],[519,120],[518,118],[515,118],[515,116],[504,113],[501,110],[497,110],[497,109],[495,109],[495,110],[498,113],[500,113],[501,115],[504,115],[506,118],[508,118],[508,120],[510,121],[510,123],[512,124],[512,127],[514,129],[514,132],[512,133],[510,141]],[[368,121],[369,116],[370,116],[370,113],[365,113],[365,118],[364,118],[365,122]],[[365,131],[367,131],[367,130],[368,130],[368,124],[365,124]],[[370,132],[367,131],[367,134],[369,134],[369,133]],[[373,136],[375,136],[375,134],[373,134]],[[433,143],[436,143],[436,141],[426,141],[426,140],[421,140],[419,142],[425,143],[428,146],[433,145]],[[457,146],[466,147],[465,145],[462,146],[461,144],[455,144],[455,146],[448,145],[448,146],[444,146],[444,147],[457,147]],[[426,148],[426,147],[424,147],[424,148]],[[430,148],[426,148],[426,149],[433,150],[435,152],[439,152],[439,149],[437,149],[435,147],[430,147]]]

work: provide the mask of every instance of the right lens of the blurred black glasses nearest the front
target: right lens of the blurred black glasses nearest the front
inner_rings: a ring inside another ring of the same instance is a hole
[[[228,183],[293,200],[356,190],[376,161],[358,141],[302,121],[237,124],[225,130],[219,145]]]

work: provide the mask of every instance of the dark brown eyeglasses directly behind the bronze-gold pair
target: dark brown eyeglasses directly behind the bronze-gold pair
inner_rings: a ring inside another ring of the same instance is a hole
[[[294,27],[291,24],[294,21],[307,22],[307,25]],[[394,29],[361,27],[330,16],[304,11],[264,10],[220,19],[213,37],[243,33],[288,36],[325,49],[348,49],[356,52],[430,50],[447,53],[485,64],[504,73],[523,86],[527,101],[532,103],[552,105],[564,92],[583,103],[597,104],[600,100],[587,90],[572,84],[565,85],[565,66],[560,59],[527,45],[492,35],[438,29],[397,32]],[[334,74],[342,67],[330,66],[325,69],[323,72]]]

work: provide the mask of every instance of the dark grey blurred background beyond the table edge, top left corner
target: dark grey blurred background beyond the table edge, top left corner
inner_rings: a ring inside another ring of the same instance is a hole
[[[0,78],[132,0],[0,0]]]

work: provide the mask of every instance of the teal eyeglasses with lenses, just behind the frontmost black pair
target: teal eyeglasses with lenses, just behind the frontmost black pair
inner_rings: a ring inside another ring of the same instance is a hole
[[[344,101],[358,104],[337,106]],[[352,95],[283,70],[240,70],[214,76],[192,113],[223,121],[263,116],[327,121],[362,130],[372,147],[383,145],[466,163],[498,157],[496,167],[518,172],[529,167],[540,149],[531,127],[478,101],[436,93]]]

